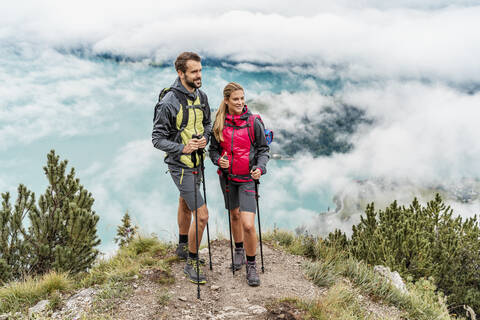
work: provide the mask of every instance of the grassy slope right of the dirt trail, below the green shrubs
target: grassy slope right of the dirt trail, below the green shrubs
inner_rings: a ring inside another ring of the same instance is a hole
[[[376,274],[371,266],[326,246],[320,238],[274,230],[264,235],[264,239],[292,254],[310,258],[311,261],[305,266],[307,275],[316,285],[328,288],[321,301],[306,303],[293,299],[295,305],[306,312],[307,318],[370,319],[371,316],[357,299],[357,292],[396,307],[407,319],[461,319],[448,313],[445,297],[437,293],[428,280],[408,283],[409,293],[403,294]],[[346,279],[352,288],[345,286]]]

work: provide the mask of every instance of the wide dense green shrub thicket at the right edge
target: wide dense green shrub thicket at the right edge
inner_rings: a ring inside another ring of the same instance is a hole
[[[393,202],[385,210],[367,206],[347,241],[350,253],[368,264],[382,264],[404,278],[433,277],[453,312],[463,305],[480,313],[480,228],[477,217],[454,216],[440,195],[421,206]],[[331,235],[338,239],[339,234]]]

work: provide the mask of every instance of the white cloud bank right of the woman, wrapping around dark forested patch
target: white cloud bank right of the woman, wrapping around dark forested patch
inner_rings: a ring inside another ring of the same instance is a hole
[[[305,189],[341,178],[389,177],[418,182],[478,176],[480,170],[480,93],[443,85],[391,82],[383,87],[347,86],[334,97],[312,91],[264,94],[265,121],[273,128],[295,128],[305,115],[321,120],[322,109],[341,103],[365,111],[373,125],[360,128],[346,154],[296,161],[298,185]],[[286,170],[291,170],[290,168]],[[310,172],[315,172],[311,175]]]

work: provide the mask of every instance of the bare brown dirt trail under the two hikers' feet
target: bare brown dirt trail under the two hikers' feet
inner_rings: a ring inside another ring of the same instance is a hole
[[[266,319],[265,306],[274,299],[297,297],[318,298],[324,289],[308,281],[302,270],[304,258],[293,256],[264,244],[265,273],[261,273],[260,251],[257,265],[261,285],[246,283],[245,266],[232,275],[230,245],[227,240],[211,242],[213,271],[204,267],[207,284],[202,285],[201,299],[197,287],[183,274],[185,262],[172,265],[175,283],[166,287],[146,279],[139,282],[134,294],[120,306],[122,319]],[[163,288],[163,289],[162,289]],[[163,290],[163,291],[162,291]],[[169,296],[162,303],[162,296]]]

